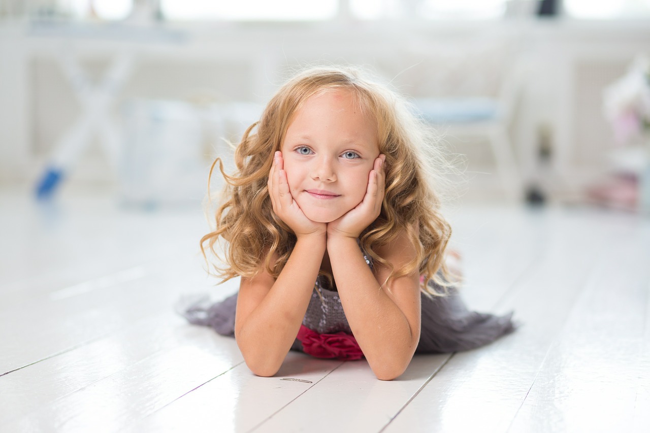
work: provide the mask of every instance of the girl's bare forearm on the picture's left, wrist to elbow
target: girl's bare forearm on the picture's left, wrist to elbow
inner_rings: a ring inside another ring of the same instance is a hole
[[[307,311],[325,246],[324,236],[299,238],[270,291],[246,317],[237,316],[237,345],[253,373],[272,376],[287,356]]]

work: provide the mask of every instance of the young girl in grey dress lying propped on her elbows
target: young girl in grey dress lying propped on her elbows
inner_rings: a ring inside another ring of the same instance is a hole
[[[216,269],[240,276],[240,289],[191,306],[188,320],[234,335],[260,376],[294,349],[365,357],[391,380],[415,352],[466,350],[512,331],[510,315],[467,311],[445,280],[451,230],[427,181],[426,137],[402,99],[355,70],[296,75],[244,133],[237,172],[213,164],[225,202],[201,248],[222,248],[226,267]]]

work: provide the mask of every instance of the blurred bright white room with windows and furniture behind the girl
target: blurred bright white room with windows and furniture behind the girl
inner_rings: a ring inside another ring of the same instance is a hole
[[[291,71],[334,63],[465,155],[464,200],[638,211],[649,53],[650,0],[0,0],[0,185],[200,201]]]

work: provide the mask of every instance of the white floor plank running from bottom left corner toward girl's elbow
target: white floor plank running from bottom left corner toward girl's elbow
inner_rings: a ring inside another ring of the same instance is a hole
[[[227,341],[226,345],[233,345]],[[234,348],[234,346],[233,346]],[[232,352],[232,350],[228,350]],[[183,342],[10,421],[6,431],[118,432],[233,368],[216,345]]]

